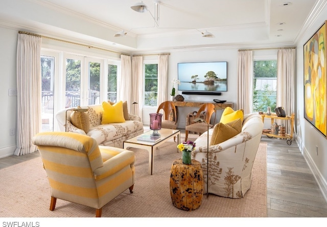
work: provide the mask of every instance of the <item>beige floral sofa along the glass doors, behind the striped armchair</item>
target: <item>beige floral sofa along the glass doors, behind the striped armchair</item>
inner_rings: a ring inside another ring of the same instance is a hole
[[[121,123],[101,124],[103,108],[102,105],[82,106],[87,109],[89,117],[89,130],[85,133],[83,130],[76,128],[71,122],[71,110],[63,109],[56,114],[59,129],[65,132],[66,129],[66,111],[67,111],[67,132],[75,132],[90,136],[98,142],[99,145],[113,146],[123,148],[123,142],[127,139],[141,135],[143,130],[143,122],[136,115],[128,113],[128,120]],[[125,115],[125,114],[124,114]]]

